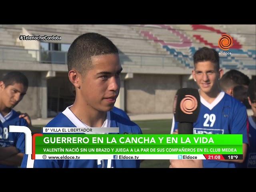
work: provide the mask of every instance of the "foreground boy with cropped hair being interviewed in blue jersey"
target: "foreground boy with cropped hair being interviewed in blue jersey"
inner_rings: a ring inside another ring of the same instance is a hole
[[[106,37],[82,34],[68,50],[68,77],[76,89],[74,104],[46,127],[119,127],[120,134],[142,134],[138,125],[110,111],[120,90],[118,49]],[[140,160],[31,160],[22,167],[34,168],[139,168]]]

